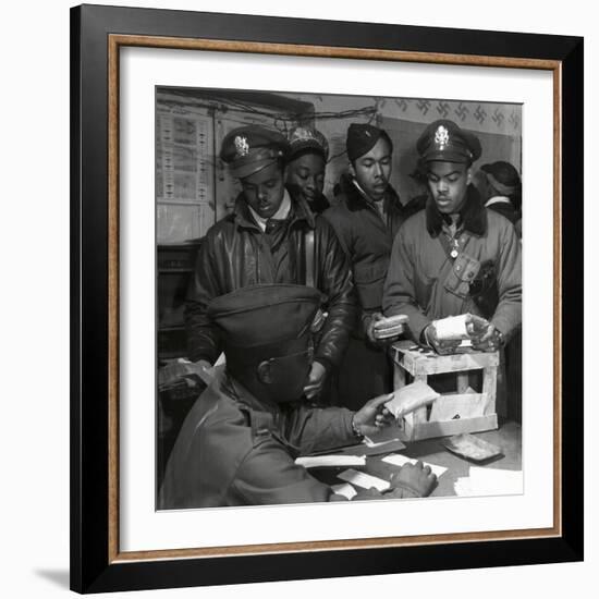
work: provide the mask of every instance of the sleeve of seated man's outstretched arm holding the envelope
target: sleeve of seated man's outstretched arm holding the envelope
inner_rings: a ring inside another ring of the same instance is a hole
[[[285,438],[302,455],[357,443],[353,416],[354,413],[344,407],[298,404],[286,414]]]

